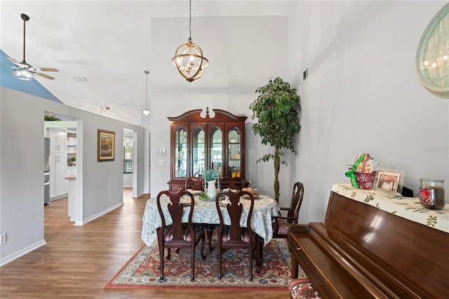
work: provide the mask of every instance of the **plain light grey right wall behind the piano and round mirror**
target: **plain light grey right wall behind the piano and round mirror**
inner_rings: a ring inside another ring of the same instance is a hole
[[[295,1],[292,78],[302,98],[295,178],[300,219],[321,221],[330,186],[347,182],[359,152],[406,169],[415,196],[421,177],[448,188],[449,101],[428,93],[415,72],[420,38],[446,1]],[[309,67],[299,84],[297,71]],[[448,197],[446,196],[446,201]]]

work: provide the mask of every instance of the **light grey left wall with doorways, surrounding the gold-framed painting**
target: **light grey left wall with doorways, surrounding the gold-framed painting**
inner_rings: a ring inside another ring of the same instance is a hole
[[[24,83],[26,83],[24,81]],[[1,87],[0,231],[1,265],[45,244],[43,239],[43,115],[45,111],[82,119],[82,153],[77,180],[82,180],[82,222],[123,204],[123,128],[138,136],[143,161],[145,129],[57,102]],[[98,128],[115,132],[115,160],[97,161]],[[143,193],[144,163],[138,164],[138,195]]]

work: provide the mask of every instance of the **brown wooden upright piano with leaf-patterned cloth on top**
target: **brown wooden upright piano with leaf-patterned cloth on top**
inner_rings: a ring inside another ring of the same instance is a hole
[[[449,298],[449,205],[333,185],[324,222],[290,227],[298,264],[321,298]]]

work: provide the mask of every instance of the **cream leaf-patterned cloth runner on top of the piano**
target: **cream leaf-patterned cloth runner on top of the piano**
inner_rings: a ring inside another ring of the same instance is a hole
[[[361,190],[351,184],[335,184],[332,191],[436,230],[449,232],[449,204],[442,210],[429,210],[421,206],[417,197],[403,197],[383,190]]]

